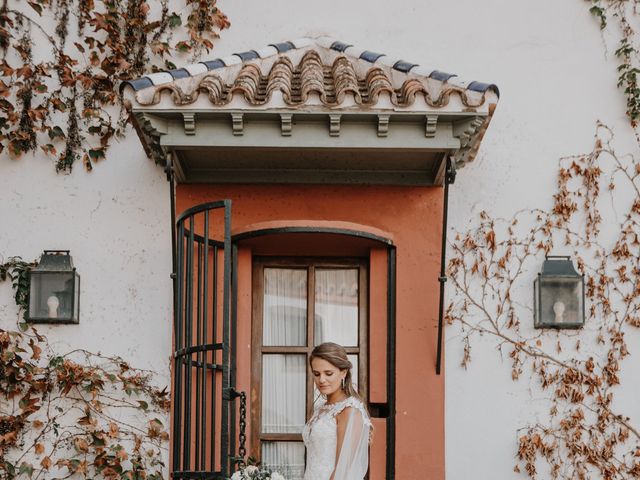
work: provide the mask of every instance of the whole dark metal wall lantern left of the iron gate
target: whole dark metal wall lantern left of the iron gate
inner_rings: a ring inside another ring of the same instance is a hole
[[[45,250],[29,283],[29,322],[78,323],[80,275],[69,250]]]

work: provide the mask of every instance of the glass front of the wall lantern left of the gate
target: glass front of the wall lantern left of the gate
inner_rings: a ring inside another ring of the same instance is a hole
[[[79,277],[74,272],[32,272],[29,318],[75,321],[78,312]],[[74,296],[76,298],[74,298]]]

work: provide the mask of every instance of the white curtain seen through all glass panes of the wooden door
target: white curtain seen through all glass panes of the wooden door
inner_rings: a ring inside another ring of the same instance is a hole
[[[358,269],[316,269],[315,344],[358,345]],[[263,345],[307,344],[307,270],[264,269]],[[349,355],[357,383],[358,356]],[[263,354],[262,431],[301,433],[305,423],[306,355]],[[315,398],[318,392],[315,390]],[[262,442],[262,462],[287,480],[304,475],[302,442]]]

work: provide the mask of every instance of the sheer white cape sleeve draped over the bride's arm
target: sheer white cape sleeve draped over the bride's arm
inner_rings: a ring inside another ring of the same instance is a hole
[[[369,467],[371,420],[357,400],[349,402],[346,407],[352,408],[332,478],[333,480],[362,480]]]

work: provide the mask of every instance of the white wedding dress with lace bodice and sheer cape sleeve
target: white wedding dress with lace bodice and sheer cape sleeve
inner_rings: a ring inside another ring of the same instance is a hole
[[[336,415],[352,407],[342,448],[336,464]],[[333,404],[320,405],[302,430],[307,447],[304,480],[362,480],[369,466],[369,433],[371,420],[364,405],[355,397]]]

